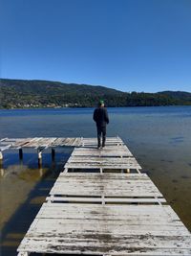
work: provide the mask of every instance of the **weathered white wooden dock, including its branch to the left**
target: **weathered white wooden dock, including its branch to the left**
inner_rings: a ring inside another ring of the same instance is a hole
[[[65,145],[61,138],[49,145],[59,143]],[[108,138],[103,150],[96,149],[96,138],[69,144],[74,151],[19,245],[19,256],[191,255],[190,232],[120,138]]]

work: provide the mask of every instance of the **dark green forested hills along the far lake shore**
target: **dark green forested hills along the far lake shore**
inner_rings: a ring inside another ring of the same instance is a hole
[[[107,106],[191,105],[191,93],[181,91],[127,93],[58,81],[0,80],[0,108],[96,106],[100,99]]]

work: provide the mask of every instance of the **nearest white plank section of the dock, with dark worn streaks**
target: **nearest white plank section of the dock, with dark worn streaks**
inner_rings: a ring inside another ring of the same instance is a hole
[[[169,255],[190,253],[189,232],[176,214],[173,213],[175,219],[170,219],[165,208],[168,208],[167,212],[172,211],[169,206],[154,205],[151,210],[150,206],[142,205],[45,203],[18,250],[99,255],[148,255],[145,253],[151,252],[151,255],[159,255],[159,251],[163,255],[167,251],[171,253]],[[126,220],[120,221],[121,213]],[[160,218],[157,218],[159,213]],[[132,220],[131,214],[137,219]]]

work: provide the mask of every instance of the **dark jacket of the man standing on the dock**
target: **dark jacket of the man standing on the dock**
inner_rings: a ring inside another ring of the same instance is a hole
[[[109,124],[109,117],[106,107],[97,107],[95,109],[93,119],[95,120],[97,127],[106,127],[106,125]]]

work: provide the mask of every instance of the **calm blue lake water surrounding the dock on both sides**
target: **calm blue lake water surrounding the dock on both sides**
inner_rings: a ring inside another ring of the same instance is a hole
[[[94,109],[0,110],[3,137],[92,137]],[[109,108],[108,136],[119,135],[158,186],[181,221],[191,230],[191,106]],[[2,255],[15,249],[70,155],[70,149],[43,154],[39,169],[35,151],[6,151],[1,168]]]

